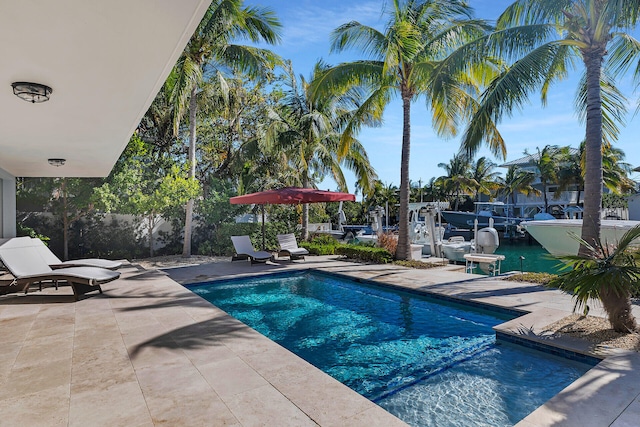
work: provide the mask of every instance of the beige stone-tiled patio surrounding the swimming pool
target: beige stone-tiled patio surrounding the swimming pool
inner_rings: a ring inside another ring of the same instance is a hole
[[[557,291],[449,267],[412,270],[333,257],[166,271],[131,265],[103,286],[104,294],[79,302],[67,287],[0,297],[2,423],[405,425],[180,285],[308,268],[530,312],[499,329],[544,342],[550,337],[541,328],[573,307]],[[637,424],[638,353],[594,350],[570,339],[553,344],[608,358],[519,425]]]

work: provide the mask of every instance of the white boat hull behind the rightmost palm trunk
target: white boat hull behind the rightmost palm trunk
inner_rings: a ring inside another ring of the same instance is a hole
[[[600,240],[603,244],[616,244],[640,221],[603,219],[600,223]],[[545,221],[523,221],[520,226],[552,255],[577,255],[582,234],[581,219],[550,219]]]

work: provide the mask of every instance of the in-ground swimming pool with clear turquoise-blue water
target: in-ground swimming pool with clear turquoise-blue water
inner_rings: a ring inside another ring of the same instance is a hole
[[[513,314],[334,276],[190,289],[414,426],[510,426],[592,367],[496,342]]]

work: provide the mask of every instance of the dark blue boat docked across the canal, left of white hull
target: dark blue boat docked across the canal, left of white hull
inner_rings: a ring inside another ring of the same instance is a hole
[[[442,211],[447,223],[458,228],[473,228],[475,220],[478,227],[489,227],[489,220],[493,220],[493,227],[498,231],[515,231],[520,222],[530,218],[511,216],[511,206],[502,202],[476,202],[475,212]]]

